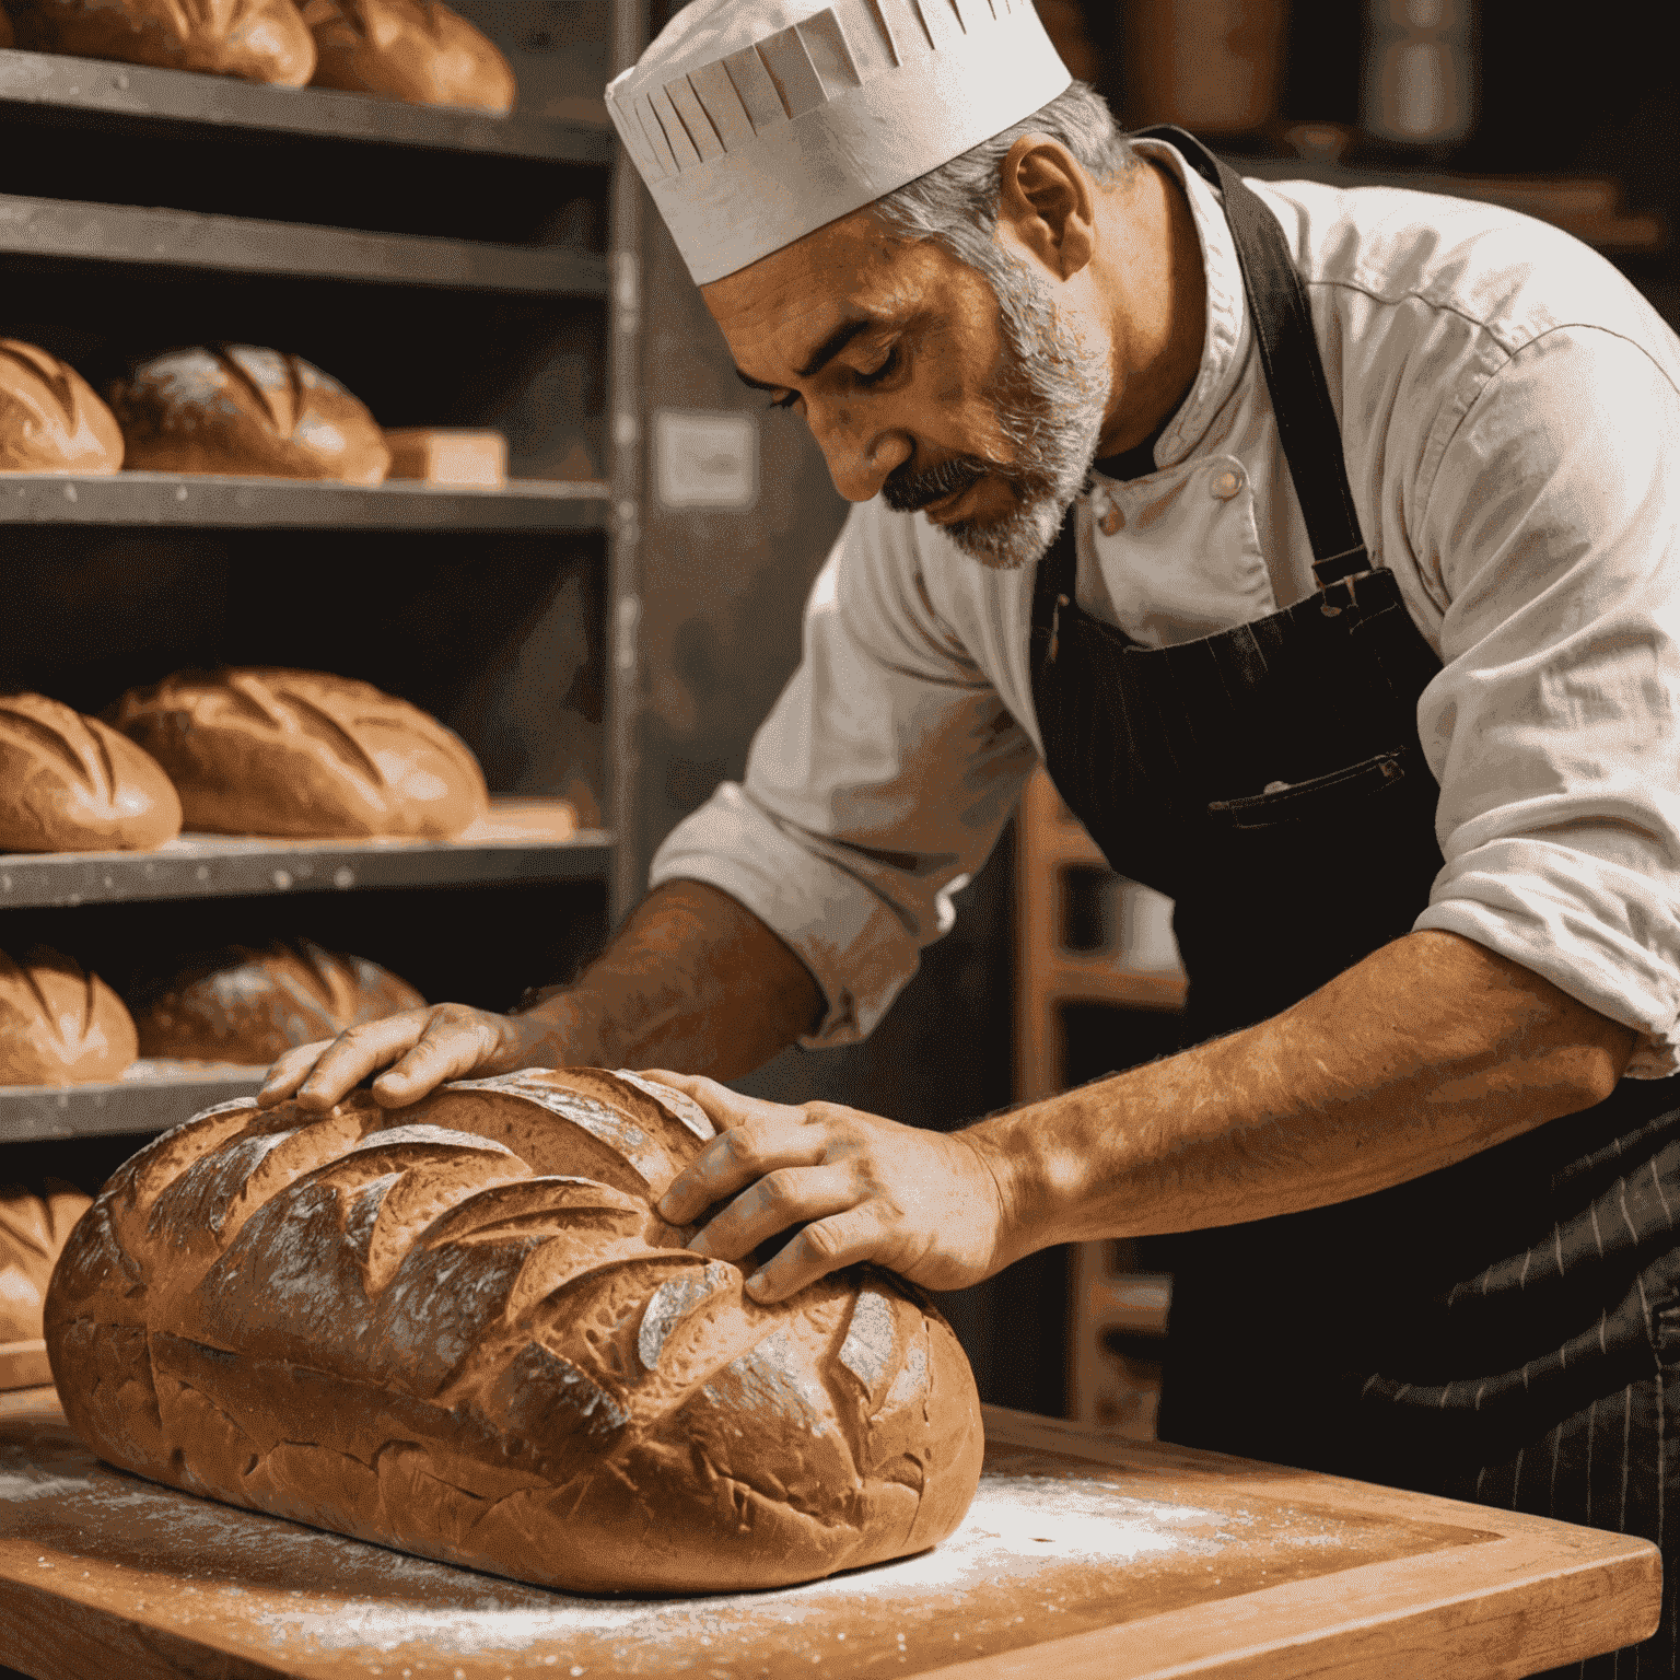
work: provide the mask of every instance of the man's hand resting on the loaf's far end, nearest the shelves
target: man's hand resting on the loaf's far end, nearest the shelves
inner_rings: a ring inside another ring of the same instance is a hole
[[[269,1068],[257,1102],[270,1109],[296,1095],[301,1107],[326,1110],[376,1067],[395,1062],[373,1082],[373,1097],[386,1109],[400,1109],[418,1102],[447,1079],[546,1067],[549,1062],[543,1050],[549,1038],[551,1021],[491,1015],[465,1003],[403,1010],[351,1026],[338,1038],[287,1050]]]

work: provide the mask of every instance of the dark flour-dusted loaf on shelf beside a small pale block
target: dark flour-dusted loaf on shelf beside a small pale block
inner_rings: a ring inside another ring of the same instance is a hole
[[[109,396],[123,465],[134,470],[381,484],[391,464],[366,407],[277,349],[171,349],[116,380]]]

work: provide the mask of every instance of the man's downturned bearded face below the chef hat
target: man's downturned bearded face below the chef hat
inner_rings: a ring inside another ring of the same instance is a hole
[[[704,287],[741,378],[803,412],[850,501],[922,511],[974,559],[1038,559],[1079,492],[1107,360],[1058,331],[1048,286],[995,287],[858,212]]]

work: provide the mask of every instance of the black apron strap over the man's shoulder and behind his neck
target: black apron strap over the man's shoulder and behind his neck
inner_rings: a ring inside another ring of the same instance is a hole
[[[1300,274],[1277,217],[1200,139],[1163,123],[1146,128],[1136,139],[1164,139],[1184,155],[1191,168],[1225,193],[1225,218],[1242,250],[1243,291],[1253,323],[1260,365],[1277,435],[1295,484],[1307,539],[1312,543],[1312,575],[1319,588],[1371,570],[1354,492],[1342,462],[1342,433],[1324,381],[1319,344],[1312,336],[1312,312]]]

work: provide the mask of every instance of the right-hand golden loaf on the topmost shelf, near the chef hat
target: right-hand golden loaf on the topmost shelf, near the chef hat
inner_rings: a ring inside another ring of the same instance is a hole
[[[316,87],[507,113],[519,96],[501,49],[437,0],[302,0]]]

